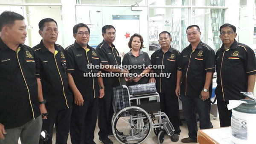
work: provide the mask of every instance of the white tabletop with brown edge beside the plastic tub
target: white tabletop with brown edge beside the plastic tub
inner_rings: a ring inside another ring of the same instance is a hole
[[[199,144],[234,144],[231,141],[231,127],[198,130]]]

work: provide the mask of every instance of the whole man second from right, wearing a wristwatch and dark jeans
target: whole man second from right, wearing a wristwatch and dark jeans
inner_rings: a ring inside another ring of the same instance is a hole
[[[175,92],[177,97],[181,97],[183,115],[189,129],[189,137],[183,138],[181,142],[190,143],[197,142],[195,108],[200,118],[200,129],[210,128],[210,95],[215,72],[215,53],[200,40],[201,32],[197,25],[189,26],[186,33],[190,44],[180,54]]]

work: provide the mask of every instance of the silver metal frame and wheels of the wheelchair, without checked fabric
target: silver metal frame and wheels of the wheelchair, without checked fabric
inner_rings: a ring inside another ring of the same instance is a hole
[[[134,141],[134,140],[137,140],[137,139],[140,139],[141,137],[138,137],[136,135],[134,135],[134,129],[130,129],[131,130],[131,136],[128,136],[127,139],[125,139],[124,141],[122,141],[119,137],[119,134],[116,133],[115,131],[115,124],[117,123],[118,119],[122,116],[119,116],[121,115],[122,112],[126,112],[128,109],[137,109],[137,110],[140,110],[142,112],[145,112],[145,116],[148,118],[148,122],[149,122],[149,130],[148,130],[148,134],[143,138],[142,141],[139,141],[138,143],[131,143],[131,144],[140,144],[142,143],[143,141],[145,141],[146,138],[148,138],[148,136],[151,134],[151,130],[152,128],[154,129],[154,133],[155,135],[157,135],[157,141],[159,144],[163,143],[163,140],[164,140],[164,133],[167,133],[169,136],[172,136],[174,134],[174,128],[171,124],[171,122],[169,121],[169,118],[168,116],[164,113],[164,112],[161,112],[161,110],[155,112],[155,113],[149,113],[146,112],[143,108],[140,108],[140,107],[134,107],[134,106],[131,106],[131,100],[136,100],[136,104],[137,105],[140,105],[140,99],[143,99],[143,98],[157,98],[157,102],[159,103],[160,102],[160,95],[157,93],[157,92],[154,92],[154,93],[147,93],[147,94],[141,94],[141,95],[130,95],[130,92],[129,92],[129,89],[127,86],[123,85],[123,86],[119,86],[119,88],[125,88],[128,92],[128,98],[129,98],[129,107],[125,107],[124,109],[120,110],[119,112],[117,113],[114,113],[113,116],[112,116],[112,132],[113,132],[113,135],[115,136],[115,138],[117,139],[117,141],[119,141],[120,143],[122,144],[130,144],[130,143],[126,143],[126,141]],[[118,117],[119,116],[119,117]],[[116,119],[118,117],[118,119]],[[133,125],[133,122],[134,120],[140,120],[140,119],[143,119],[145,117],[142,117],[142,118],[133,118],[132,115],[129,116],[130,117],[130,125],[132,127]],[[156,117],[158,118],[158,123],[154,123],[154,120],[156,120]],[[162,120],[162,117],[165,117],[166,119],[163,119]],[[155,132],[155,130],[159,130],[158,132]],[[142,135],[144,136],[144,132],[143,130],[140,131],[141,134],[139,133],[139,135]]]

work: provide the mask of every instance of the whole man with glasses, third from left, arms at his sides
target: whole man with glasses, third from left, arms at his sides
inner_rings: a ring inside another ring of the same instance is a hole
[[[99,55],[94,48],[88,45],[90,29],[87,25],[76,24],[73,28],[73,36],[76,39],[75,43],[65,49],[69,85],[74,94],[70,122],[71,142],[73,144],[95,144],[93,139],[98,103],[99,98],[104,96],[104,85],[102,77],[96,76],[96,74],[101,74],[100,69],[91,69],[87,64],[99,65]]]

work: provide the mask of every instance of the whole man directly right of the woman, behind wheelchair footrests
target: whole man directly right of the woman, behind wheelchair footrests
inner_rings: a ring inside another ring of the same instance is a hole
[[[180,134],[180,111],[179,101],[175,95],[177,79],[177,60],[180,52],[170,46],[172,38],[169,32],[163,31],[159,35],[161,49],[151,55],[152,65],[164,65],[165,69],[152,69],[151,72],[160,75],[160,73],[171,74],[167,77],[152,77],[149,83],[156,82],[157,92],[160,94],[161,111],[165,112],[170,119],[175,134],[172,135],[172,141],[179,140]]]

